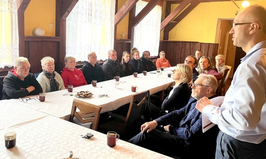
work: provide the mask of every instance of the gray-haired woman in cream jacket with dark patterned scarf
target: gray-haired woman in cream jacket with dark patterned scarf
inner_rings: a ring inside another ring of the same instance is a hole
[[[42,72],[38,75],[37,81],[45,93],[66,89],[60,74],[55,71],[54,61],[50,56],[41,59]]]

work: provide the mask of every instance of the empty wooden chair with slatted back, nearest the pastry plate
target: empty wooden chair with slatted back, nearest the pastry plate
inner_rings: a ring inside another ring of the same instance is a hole
[[[80,112],[76,111],[77,108]],[[92,130],[97,130],[100,112],[101,106],[74,99],[68,121]],[[84,116],[88,114],[90,114],[91,117],[84,119]]]

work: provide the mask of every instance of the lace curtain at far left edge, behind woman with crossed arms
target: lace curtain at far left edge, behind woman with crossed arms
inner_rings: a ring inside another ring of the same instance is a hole
[[[18,58],[17,0],[0,0],[0,68]]]

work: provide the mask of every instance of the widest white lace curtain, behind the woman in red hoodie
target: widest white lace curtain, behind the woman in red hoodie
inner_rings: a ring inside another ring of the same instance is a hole
[[[79,0],[66,18],[66,56],[87,61],[95,51],[106,60],[114,47],[115,0]]]

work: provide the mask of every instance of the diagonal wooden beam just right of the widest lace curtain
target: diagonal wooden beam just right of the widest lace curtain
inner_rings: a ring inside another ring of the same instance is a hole
[[[126,16],[139,0],[127,0],[115,15],[115,26]]]

